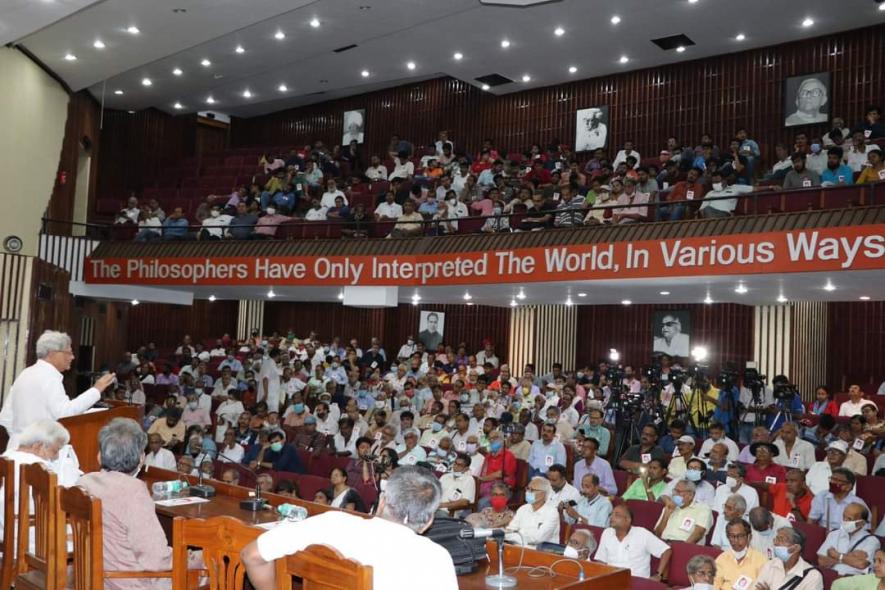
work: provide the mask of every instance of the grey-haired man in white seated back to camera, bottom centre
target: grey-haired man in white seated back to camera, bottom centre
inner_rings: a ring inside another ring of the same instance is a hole
[[[249,543],[241,556],[256,590],[276,588],[274,562],[322,544],[345,559],[372,566],[373,585],[385,590],[458,588],[448,551],[421,534],[433,524],[442,495],[439,482],[416,466],[396,469],[378,500],[374,518],[330,511],[284,521]],[[420,580],[420,582],[418,582]]]

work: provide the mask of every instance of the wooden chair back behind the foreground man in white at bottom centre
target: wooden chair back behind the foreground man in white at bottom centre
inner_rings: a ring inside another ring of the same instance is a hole
[[[292,576],[303,590],[372,590],[372,566],[345,559],[325,545],[310,545],[276,562],[277,590],[292,590]]]

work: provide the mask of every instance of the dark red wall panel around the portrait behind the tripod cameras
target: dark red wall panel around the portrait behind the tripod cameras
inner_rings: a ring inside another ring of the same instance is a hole
[[[609,349],[622,362],[651,364],[654,313],[688,310],[691,346],[706,346],[709,364],[742,368],[753,360],[753,307],[731,303],[713,305],[594,305],[578,308],[578,365],[595,366]]]

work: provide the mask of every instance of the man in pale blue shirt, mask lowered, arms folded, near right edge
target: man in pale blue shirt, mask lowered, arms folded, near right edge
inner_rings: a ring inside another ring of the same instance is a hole
[[[830,531],[820,549],[817,563],[843,576],[865,574],[879,551],[879,540],[868,530],[870,511],[862,504],[851,503],[842,513],[842,526]]]

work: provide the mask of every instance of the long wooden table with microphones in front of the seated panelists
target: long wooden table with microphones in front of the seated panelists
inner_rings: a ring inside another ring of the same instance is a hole
[[[150,468],[141,476],[147,485],[151,485],[155,481],[168,481],[178,479],[178,475],[172,471],[165,469]],[[193,484],[196,478],[186,478]],[[233,516],[241,521],[259,525],[265,522],[273,522],[278,519],[275,510],[263,510],[259,512],[251,512],[240,508],[240,500],[249,497],[251,490],[240,486],[231,486],[224,482],[209,482],[216,490],[216,496],[210,498],[208,502],[200,502],[197,504],[188,504],[185,506],[159,506],[157,505],[157,515],[160,517],[160,524],[163,526],[169,543],[172,543],[172,519],[177,516],[184,518],[209,518],[211,516]],[[320,514],[327,510],[337,510],[328,506],[314,504],[313,502],[305,502],[296,500],[286,496],[277,494],[264,495],[272,506],[278,506],[282,503],[297,504],[307,509],[310,516]],[[359,513],[353,513],[359,515]],[[364,515],[370,518],[368,515]],[[461,590],[487,590],[485,578],[489,573],[497,573],[498,571],[498,553],[497,545],[489,541],[486,543],[486,551],[489,561],[479,562],[477,571],[465,576],[458,577],[458,587]],[[562,557],[552,553],[544,553],[533,549],[522,550],[518,546],[507,545],[504,548],[504,567],[511,568],[520,563],[525,566],[517,572],[507,572],[508,575],[516,577],[518,584],[517,590],[623,590],[630,586],[630,572],[624,569],[618,569],[599,563],[591,563],[589,561],[582,562],[584,570],[584,580],[578,580],[577,565],[574,563],[559,563],[556,566],[556,576],[530,577],[528,575],[529,568],[534,566],[551,566],[554,562],[561,560]],[[380,590],[380,589],[379,589]]]

